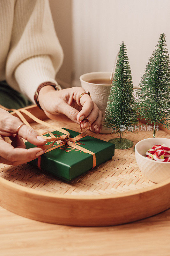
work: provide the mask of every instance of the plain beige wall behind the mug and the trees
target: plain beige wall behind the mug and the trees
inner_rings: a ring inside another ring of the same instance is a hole
[[[111,71],[119,44],[126,44],[133,84],[138,85],[159,35],[170,53],[169,0],[49,0],[64,62],[57,74],[65,87],[79,76]]]

